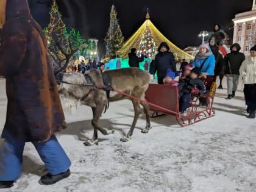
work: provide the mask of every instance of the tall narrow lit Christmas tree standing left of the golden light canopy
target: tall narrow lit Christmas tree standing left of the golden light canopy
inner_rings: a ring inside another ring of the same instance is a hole
[[[108,28],[107,36],[105,37],[105,46],[107,50],[107,57],[115,58],[118,55],[117,51],[121,48],[124,42],[124,37],[121,28],[118,24],[117,13],[115,5],[112,5],[110,12],[110,26]]]

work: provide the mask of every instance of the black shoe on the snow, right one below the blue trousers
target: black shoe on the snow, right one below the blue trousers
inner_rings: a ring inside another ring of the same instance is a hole
[[[70,170],[68,169],[65,172],[62,172],[58,175],[52,176],[51,174],[46,174],[45,176],[41,177],[39,183],[41,185],[52,185],[54,183],[59,182],[62,179],[65,179],[70,176]]]

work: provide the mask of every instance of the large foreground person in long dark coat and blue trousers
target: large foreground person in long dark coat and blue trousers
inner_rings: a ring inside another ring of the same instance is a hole
[[[6,21],[5,21],[6,20]],[[69,176],[71,162],[54,133],[66,128],[47,43],[30,15],[27,0],[1,0],[0,76],[6,79],[7,115],[0,148],[0,188],[20,177],[23,150],[32,142],[51,185]]]

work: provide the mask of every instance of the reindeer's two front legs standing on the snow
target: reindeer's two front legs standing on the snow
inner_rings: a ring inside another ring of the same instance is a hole
[[[93,144],[98,145],[98,130],[103,134],[103,135],[110,135],[114,133],[114,130],[107,130],[102,127],[98,126],[99,123],[99,118],[101,118],[101,114],[104,110],[105,105],[97,105],[96,107],[92,107],[93,110],[93,120],[91,121],[91,125],[93,126],[94,132],[93,132],[93,138],[91,140],[85,141],[84,145],[85,146],[91,146]]]

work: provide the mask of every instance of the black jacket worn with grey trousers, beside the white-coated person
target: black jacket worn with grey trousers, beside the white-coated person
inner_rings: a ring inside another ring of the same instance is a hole
[[[244,54],[238,51],[232,51],[227,54],[227,56],[225,57],[225,73],[239,75],[239,69],[244,59]]]

